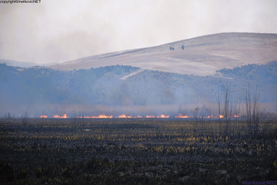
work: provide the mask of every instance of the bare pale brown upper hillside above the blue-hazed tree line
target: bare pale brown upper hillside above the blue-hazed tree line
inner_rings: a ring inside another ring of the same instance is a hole
[[[184,45],[184,50],[181,46]],[[170,46],[175,50],[170,50]],[[277,34],[218,33],[184,39],[161,46],[93,55],[51,66],[73,70],[132,65],[196,76],[213,75],[216,70],[245,64],[266,64],[277,60]]]

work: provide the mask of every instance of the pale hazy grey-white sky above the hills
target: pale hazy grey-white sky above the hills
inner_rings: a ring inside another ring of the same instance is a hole
[[[67,62],[213,33],[277,33],[276,7],[276,0],[0,3],[0,59]]]

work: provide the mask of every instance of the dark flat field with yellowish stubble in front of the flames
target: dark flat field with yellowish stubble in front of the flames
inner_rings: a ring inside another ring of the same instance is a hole
[[[0,184],[242,184],[277,180],[277,121],[0,119]]]

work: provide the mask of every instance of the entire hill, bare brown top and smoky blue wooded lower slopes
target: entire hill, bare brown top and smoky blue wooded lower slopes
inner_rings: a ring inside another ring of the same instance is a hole
[[[176,116],[179,107],[216,107],[215,91],[222,94],[226,84],[242,104],[245,89],[257,87],[273,111],[276,59],[277,34],[220,33],[50,67],[0,64],[0,114],[28,108],[63,114],[81,106],[93,114]]]

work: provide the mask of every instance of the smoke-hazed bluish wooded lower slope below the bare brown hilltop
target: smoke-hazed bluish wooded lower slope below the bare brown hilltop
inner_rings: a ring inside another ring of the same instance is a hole
[[[0,100],[11,103],[75,105],[178,105],[215,103],[215,91],[231,84],[233,100],[244,97],[248,85],[258,87],[265,102],[277,103],[277,62],[222,69],[215,76],[110,66],[75,71],[46,68],[15,69],[0,64]]]

